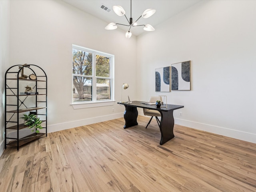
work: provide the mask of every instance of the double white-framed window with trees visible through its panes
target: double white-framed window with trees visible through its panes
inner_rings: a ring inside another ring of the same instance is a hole
[[[72,104],[113,101],[114,55],[72,47]]]

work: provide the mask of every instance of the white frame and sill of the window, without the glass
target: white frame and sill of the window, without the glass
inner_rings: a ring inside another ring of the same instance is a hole
[[[73,93],[72,92],[73,92],[74,76],[80,76],[80,75],[73,74],[73,63],[71,65],[71,72],[72,72],[72,89],[71,89],[72,90],[71,91],[72,101],[71,101],[71,104],[72,104],[73,108],[80,109],[80,108],[90,108],[90,107],[114,105],[114,102],[115,102],[115,100],[114,100],[114,55],[72,44],[72,50],[73,49],[81,50],[84,52],[89,52],[92,54],[92,58],[93,58],[92,59],[92,75],[91,76],[83,75],[84,77],[92,78],[92,101],[73,102]],[[73,53],[73,51],[72,51],[72,53]],[[106,79],[110,79],[110,100],[98,100],[98,101],[96,100],[96,91],[97,91],[96,79],[102,78],[102,77],[96,76],[96,54],[101,55],[101,56],[106,56],[109,58],[110,75]]]

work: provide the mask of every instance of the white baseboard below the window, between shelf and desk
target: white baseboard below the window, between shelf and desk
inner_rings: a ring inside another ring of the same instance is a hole
[[[64,123],[59,123],[59,124],[54,124],[54,125],[48,125],[47,132],[52,133],[52,132],[66,130],[66,129],[75,128],[75,127],[79,127],[79,126],[84,126],[84,125],[99,123],[99,122],[108,121],[108,120],[112,120],[112,119],[117,119],[117,118],[121,118],[121,117],[124,117],[124,113],[117,113],[117,114],[111,114],[111,115],[100,116],[100,117],[95,117],[95,118],[82,119],[82,120],[78,120],[78,121],[71,121],[71,122],[64,122]]]

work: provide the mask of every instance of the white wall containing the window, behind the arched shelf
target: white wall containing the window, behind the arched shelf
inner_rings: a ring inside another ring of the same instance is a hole
[[[121,30],[105,30],[106,25],[62,1],[11,1],[10,64],[36,64],[45,70],[48,132],[122,117],[124,107],[117,101],[124,82],[130,85],[131,98],[135,98],[136,38],[126,39]],[[113,106],[74,110],[70,105],[72,44],[115,55]]]

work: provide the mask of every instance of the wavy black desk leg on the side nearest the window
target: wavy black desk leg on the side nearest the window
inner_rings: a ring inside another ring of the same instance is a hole
[[[124,125],[124,129],[126,129],[128,127],[138,125],[137,117],[138,117],[137,107],[132,107],[132,106],[125,105],[125,111],[124,111],[125,125]]]

